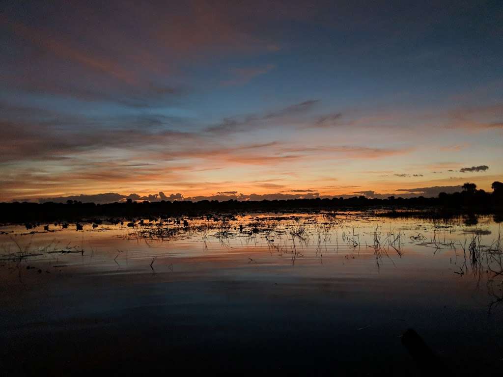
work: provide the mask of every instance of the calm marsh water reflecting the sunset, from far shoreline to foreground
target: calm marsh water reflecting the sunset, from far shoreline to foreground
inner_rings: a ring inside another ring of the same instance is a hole
[[[418,375],[401,342],[409,328],[455,375],[503,366],[491,216],[212,214],[0,230],[7,374]]]

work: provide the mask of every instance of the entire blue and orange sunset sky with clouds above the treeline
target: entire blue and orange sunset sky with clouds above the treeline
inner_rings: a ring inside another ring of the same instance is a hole
[[[501,1],[0,3],[0,201],[503,181]]]

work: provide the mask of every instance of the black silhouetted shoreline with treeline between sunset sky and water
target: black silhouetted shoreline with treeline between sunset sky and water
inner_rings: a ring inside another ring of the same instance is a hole
[[[218,201],[159,201],[123,202],[110,204],[47,202],[0,203],[0,223],[23,224],[44,222],[90,222],[95,219],[167,218],[211,214],[256,212],[319,212],[369,211],[381,217],[421,217],[449,219],[462,215],[491,215],[501,219],[503,200],[500,195],[485,192],[441,194],[438,198],[367,199],[294,199],[239,202]],[[91,220],[89,220],[91,219]]]

